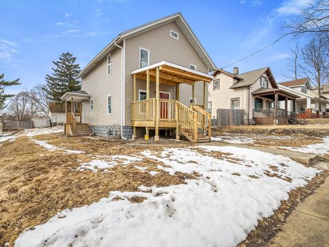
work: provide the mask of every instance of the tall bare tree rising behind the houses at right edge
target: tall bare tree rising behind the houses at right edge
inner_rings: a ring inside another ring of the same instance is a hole
[[[319,34],[311,38],[302,48],[301,69],[317,85],[318,97],[321,86],[329,80],[329,35]]]

